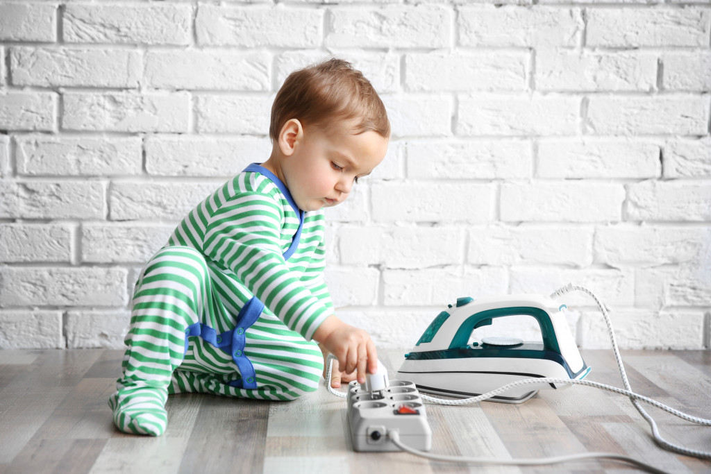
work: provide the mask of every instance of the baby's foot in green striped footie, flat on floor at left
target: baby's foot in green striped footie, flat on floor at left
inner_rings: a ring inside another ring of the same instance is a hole
[[[168,392],[152,387],[125,387],[109,397],[114,424],[124,433],[161,436],[166,431]]]

